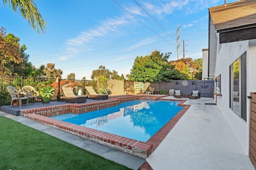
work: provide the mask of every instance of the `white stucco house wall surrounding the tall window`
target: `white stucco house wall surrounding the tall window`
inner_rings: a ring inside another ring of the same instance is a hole
[[[219,42],[219,41],[218,41]],[[240,41],[240,42],[232,42],[232,43],[223,43],[221,45],[217,45],[217,54],[216,54],[216,68],[215,68],[215,76],[221,74],[221,94],[222,96],[217,97],[217,106],[222,111],[223,116],[225,117],[226,121],[236,134],[238,140],[241,142],[242,146],[244,147],[244,155],[248,156],[248,149],[249,149],[249,107],[247,101],[247,122],[245,122],[242,118],[240,118],[236,113],[229,108],[229,66],[238,58],[240,57],[245,51],[247,51],[247,74],[252,71],[252,67],[250,67],[250,60],[255,60],[256,56],[248,57],[250,54],[249,51],[249,41]],[[250,48],[251,49],[251,48]],[[253,50],[255,50],[254,47]],[[254,55],[255,51],[254,51]],[[254,59],[253,59],[254,58]],[[248,64],[249,63],[249,64]],[[252,65],[251,65],[252,66]],[[256,66],[254,65],[254,68]],[[254,69],[253,68],[253,69]],[[254,74],[255,74],[254,69]],[[251,81],[252,77],[247,75],[247,81]],[[254,78],[255,82],[255,78]],[[249,85],[247,83],[247,95],[250,93]],[[255,89],[256,91],[256,89]]]

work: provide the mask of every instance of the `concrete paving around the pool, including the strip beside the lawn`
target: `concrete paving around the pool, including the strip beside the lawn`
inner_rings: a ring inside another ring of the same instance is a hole
[[[184,104],[191,106],[146,159],[152,169],[254,169],[218,107],[204,105],[214,103],[212,98],[182,99],[187,100]],[[3,112],[0,116],[10,117],[132,169],[138,169],[145,161],[24,117]],[[144,165],[141,169],[150,169]]]

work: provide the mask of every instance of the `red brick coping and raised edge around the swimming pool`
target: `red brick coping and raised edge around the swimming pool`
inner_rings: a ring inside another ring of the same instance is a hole
[[[113,106],[117,106],[120,103],[126,101],[133,101],[140,99],[141,97],[149,97],[146,96],[132,96],[132,97],[122,97],[116,98],[109,101],[99,101],[96,103],[85,103],[85,104],[65,104],[58,105],[54,107],[43,107],[38,109],[30,109],[30,110],[21,110],[20,115],[27,117],[28,119],[32,119],[34,121],[38,121],[40,123],[44,123],[51,127],[59,128],[61,130],[70,132],[72,134],[76,134],[77,136],[81,136],[82,138],[86,138],[88,140],[93,140],[100,144],[110,146],[112,148],[116,148],[118,150],[122,150],[128,154],[132,154],[134,156],[138,156],[140,158],[146,159],[152,151],[162,142],[162,140],[166,137],[168,132],[174,127],[174,125],[178,122],[178,120],[184,115],[184,113],[188,110],[190,105],[184,105],[183,103],[186,100],[176,100],[176,99],[161,99],[159,100],[165,101],[181,101],[178,106],[183,106],[184,108],[175,115],[164,127],[162,127],[156,134],[154,134],[147,142],[142,142],[139,140],[134,140],[131,138],[126,138],[123,136],[119,136],[116,134],[111,134],[108,132],[103,132],[100,130],[95,130],[88,127],[82,127],[79,125],[74,125],[72,123],[66,123],[63,121],[59,121],[56,119],[52,119],[50,117],[56,115],[62,115],[66,113],[86,113],[90,111],[100,110],[104,108],[109,108]],[[164,96],[165,97],[165,96]],[[155,97],[154,97],[155,98]]]

